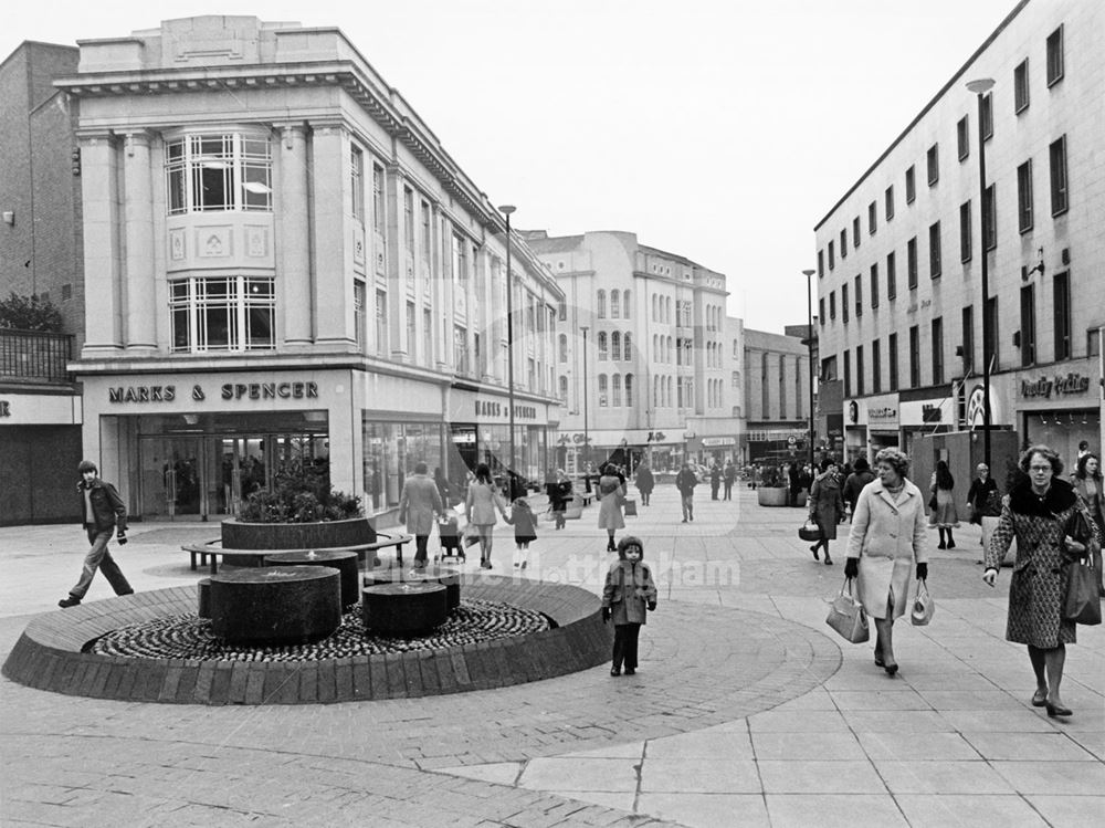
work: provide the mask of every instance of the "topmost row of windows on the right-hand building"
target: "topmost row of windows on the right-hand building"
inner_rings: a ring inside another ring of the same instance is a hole
[[[1045,41],[1046,65],[1045,75],[1048,88],[1052,88],[1065,75],[1065,57],[1063,44],[1063,27],[1060,25]],[[1024,57],[1013,70],[1013,112],[1020,116],[1029,107],[1029,59]],[[983,140],[989,140],[993,136],[993,92],[988,92],[982,96],[981,136]],[[956,154],[960,164],[967,160],[970,155],[970,118],[964,115],[956,123]],[[940,149],[939,143],[933,144],[925,153],[926,180],[929,187],[935,187],[940,179]],[[917,198],[916,166],[911,165],[905,171],[905,202],[912,205]],[[890,185],[883,192],[883,220],[890,222],[894,219],[894,185]],[[876,201],[867,205],[867,235],[873,237],[877,231],[878,206]],[[861,221],[856,216],[852,219],[852,248],[859,248],[861,243]],[[842,228],[839,235],[839,248],[836,240],[828,243],[825,249],[818,251],[818,276],[825,274],[825,254],[828,253],[829,270],[836,266],[836,255],[841,261],[848,258],[849,251],[848,228]]]

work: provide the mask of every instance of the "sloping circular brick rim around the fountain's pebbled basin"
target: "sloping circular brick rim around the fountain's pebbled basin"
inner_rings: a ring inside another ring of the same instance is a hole
[[[315,704],[487,690],[586,670],[610,658],[613,628],[579,587],[464,576],[470,598],[544,612],[557,627],[440,650],[318,661],[138,659],[83,652],[136,620],[194,615],[197,588],[90,601],[33,618],[3,664],[21,684],[69,695],[177,704]]]

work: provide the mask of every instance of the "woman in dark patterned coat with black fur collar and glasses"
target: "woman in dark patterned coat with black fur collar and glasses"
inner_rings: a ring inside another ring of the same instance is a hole
[[[1074,621],[1063,618],[1066,574],[1072,562],[1101,551],[1101,538],[1096,530],[1088,544],[1067,534],[1067,522],[1076,511],[1092,518],[1074,488],[1059,476],[1063,473],[1059,454],[1046,446],[1032,446],[1021,455],[1020,468],[1028,478],[1009,492],[986,549],[982,580],[991,587],[997,584],[998,567],[1015,538],[1006,640],[1029,648],[1036,680],[1032,706],[1046,708],[1052,719],[1066,717],[1073,715],[1062,696],[1066,644],[1076,642]]]

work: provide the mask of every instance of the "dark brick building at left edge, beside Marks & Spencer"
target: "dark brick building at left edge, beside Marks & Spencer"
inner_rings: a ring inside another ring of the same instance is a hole
[[[81,394],[66,364],[84,339],[76,104],[53,86],[74,46],[24,42],[0,63],[0,298],[36,296],[61,331],[0,328],[0,523],[80,515]]]

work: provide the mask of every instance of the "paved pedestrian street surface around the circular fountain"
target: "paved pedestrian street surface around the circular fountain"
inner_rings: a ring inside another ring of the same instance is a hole
[[[728,503],[699,493],[694,523],[680,523],[674,486],[627,518],[661,588],[635,677],[596,668],[478,693],[261,708],[107,702],[3,680],[3,825],[1101,821],[1102,628],[1080,628],[1069,651],[1075,715],[1049,720],[1029,704],[1024,648],[1003,640],[1009,570],[989,589],[978,530],[948,552],[934,532],[936,617],[899,625],[890,678],[870,646],[824,625],[843,539],[828,567],[798,539],[802,510],[760,507],[745,488]],[[611,557],[597,516],[591,506],[560,532],[543,521],[518,577],[600,589]],[[147,590],[194,583],[179,546],[218,526],[130,534],[120,566]],[[0,549],[2,658],[31,616],[61,611],[84,549],[75,526],[0,528]],[[513,552],[501,525],[495,572],[515,574]],[[109,596],[97,578],[88,600]]]

